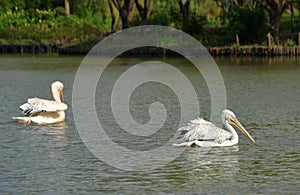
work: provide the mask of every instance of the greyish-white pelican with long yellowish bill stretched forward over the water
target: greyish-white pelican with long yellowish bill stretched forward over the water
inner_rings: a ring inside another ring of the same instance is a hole
[[[255,140],[241,125],[232,111],[226,109],[222,112],[222,122],[228,131],[202,118],[191,120],[187,126],[178,129],[179,132],[183,133],[181,137],[182,143],[173,145],[197,145],[200,147],[233,146],[239,143],[239,136],[233,126],[237,127],[246,137],[255,143]]]

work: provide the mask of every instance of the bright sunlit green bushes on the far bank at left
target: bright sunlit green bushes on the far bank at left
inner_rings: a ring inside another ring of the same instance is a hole
[[[7,11],[0,18],[0,36],[9,43],[71,43],[99,36],[99,28],[57,10]]]

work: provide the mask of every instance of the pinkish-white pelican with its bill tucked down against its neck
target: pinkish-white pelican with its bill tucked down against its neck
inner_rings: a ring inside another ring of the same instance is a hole
[[[64,85],[55,81],[51,85],[54,100],[30,98],[21,105],[20,109],[25,117],[13,117],[19,123],[37,123],[39,125],[62,122],[65,120],[65,110],[68,106],[64,103]]]

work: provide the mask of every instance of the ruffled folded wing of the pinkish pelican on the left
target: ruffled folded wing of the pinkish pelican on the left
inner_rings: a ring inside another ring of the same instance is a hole
[[[28,102],[21,105],[20,109],[25,116],[34,116],[39,112],[56,112],[67,110],[68,106],[61,102],[53,100],[43,100],[39,98],[30,98]]]

